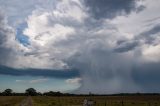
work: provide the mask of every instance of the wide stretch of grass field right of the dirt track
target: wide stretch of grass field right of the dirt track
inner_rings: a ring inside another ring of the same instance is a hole
[[[95,106],[160,106],[160,96],[92,96],[92,97],[32,97],[34,106],[82,106],[83,100],[95,101]]]

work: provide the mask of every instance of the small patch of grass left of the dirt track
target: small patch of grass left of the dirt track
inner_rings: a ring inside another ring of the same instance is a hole
[[[0,106],[19,106],[23,96],[0,96]]]

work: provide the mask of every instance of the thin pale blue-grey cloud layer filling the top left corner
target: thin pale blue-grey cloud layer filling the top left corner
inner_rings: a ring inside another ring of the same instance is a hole
[[[51,9],[57,0],[0,0],[0,9],[8,16],[9,23],[17,27],[23,23],[33,10],[41,7],[43,9]]]

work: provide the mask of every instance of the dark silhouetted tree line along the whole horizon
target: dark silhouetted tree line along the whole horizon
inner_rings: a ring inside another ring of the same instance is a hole
[[[60,91],[54,92],[37,92],[34,88],[28,88],[24,93],[16,93],[13,92],[12,89],[5,89],[3,92],[0,92],[0,96],[137,96],[137,95],[160,95],[160,93],[119,93],[119,94],[93,94],[89,92],[89,94],[70,94],[70,93],[62,93]]]

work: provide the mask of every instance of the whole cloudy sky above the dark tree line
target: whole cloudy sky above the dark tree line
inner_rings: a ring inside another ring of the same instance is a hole
[[[160,0],[0,0],[0,92],[160,92]]]

